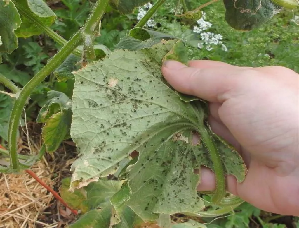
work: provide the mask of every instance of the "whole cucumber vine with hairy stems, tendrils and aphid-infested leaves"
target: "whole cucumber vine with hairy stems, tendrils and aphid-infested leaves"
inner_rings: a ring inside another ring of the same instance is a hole
[[[22,89],[8,78],[0,76],[0,83],[13,92],[2,93],[14,98],[8,151],[0,149],[0,153],[9,155],[10,166],[0,166],[0,172],[17,173],[28,169],[46,151],[55,151],[61,141],[71,135],[80,157],[72,166],[73,176],[68,186],[72,191],[87,192],[83,196],[87,197],[85,200],[88,202],[82,207],[84,210],[88,208],[87,212],[82,211],[86,214],[71,227],[88,224],[88,218],[90,220],[95,215],[109,217],[108,223],[97,221],[97,225],[102,227],[121,227],[127,215],[144,221],[155,220],[162,214],[172,212],[216,217],[231,212],[243,202],[238,197],[227,197],[225,177],[231,174],[242,182],[246,173],[245,164],[237,152],[206,124],[206,103],[173,91],[161,76],[161,64],[166,59],[187,62],[181,40],[143,28],[166,1],[155,1],[135,28],[120,40],[118,49],[110,53],[101,47],[107,56],[98,58],[94,40],[100,35],[101,20],[108,5],[121,13],[129,13],[148,1],[132,0],[128,3],[125,0],[97,0],[86,23],[67,41],[41,19],[41,12],[38,12],[41,8],[38,9],[33,1],[0,0],[0,14],[10,14],[16,21],[20,18],[29,21],[62,46]],[[199,20],[204,7],[220,0],[207,1],[196,9],[189,9],[185,0],[177,1],[178,4],[173,6],[176,7],[175,16]],[[223,3],[226,8],[225,20],[231,27],[242,31],[261,26],[283,7],[291,9],[298,6],[297,0],[223,0]],[[43,5],[42,10],[49,13],[49,21],[54,18],[54,12],[46,5]],[[0,16],[0,25],[4,28],[0,31],[0,52],[11,53],[18,46],[16,34],[22,37],[24,25],[17,22],[15,25],[5,24],[5,20]],[[49,21],[47,23],[51,23]],[[152,37],[155,37],[154,42],[147,42],[152,41]],[[73,99],[55,91],[48,93],[49,101],[38,117],[39,122],[45,123],[44,144],[35,156],[19,155],[17,132],[23,108],[34,88],[61,64],[69,61],[72,53],[75,59],[80,58],[77,62],[81,62],[83,67],[73,72]],[[83,116],[87,116],[88,120],[83,120]],[[64,135],[60,135],[60,138],[47,131],[54,120],[64,124]],[[190,143],[194,131],[200,136],[200,143],[196,145]],[[134,150],[139,152],[138,159],[129,156]],[[233,157],[234,161],[228,161],[228,156]],[[19,159],[25,162],[21,163]],[[211,168],[216,175],[216,189],[209,193],[212,194],[211,202],[203,200],[200,193],[196,192],[200,177],[193,170],[202,165]],[[112,174],[116,175],[117,181],[105,179]],[[105,191],[113,189],[109,192],[111,199],[94,205],[88,198],[89,194],[99,193],[95,193],[91,185]],[[62,192],[65,196],[71,194],[65,189]],[[204,193],[207,192],[201,194]],[[208,205],[217,206],[218,209],[202,212]],[[115,211],[114,215],[112,211]],[[105,216],[103,213],[106,213]],[[113,224],[110,223],[112,217]]]

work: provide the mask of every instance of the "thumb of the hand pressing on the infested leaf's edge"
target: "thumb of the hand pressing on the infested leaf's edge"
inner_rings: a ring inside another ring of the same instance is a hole
[[[208,66],[202,64],[202,67],[195,68],[168,60],[162,66],[162,74],[168,83],[181,93],[222,103],[227,99],[226,92],[231,92],[239,81],[236,81],[236,76],[241,73],[241,68],[216,61],[206,63]]]

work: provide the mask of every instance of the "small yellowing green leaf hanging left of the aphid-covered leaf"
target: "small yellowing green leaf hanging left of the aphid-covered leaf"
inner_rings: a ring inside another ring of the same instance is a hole
[[[60,143],[69,138],[71,128],[72,112],[62,110],[53,114],[42,128],[42,138],[47,146],[48,152],[54,152],[60,146]]]

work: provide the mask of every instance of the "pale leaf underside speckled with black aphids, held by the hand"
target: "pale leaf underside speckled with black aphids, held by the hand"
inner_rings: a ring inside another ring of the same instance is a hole
[[[174,51],[181,45],[162,40],[151,49],[117,50],[74,72],[71,137],[80,158],[72,165],[71,183],[112,174],[138,150],[137,163],[127,168],[128,185],[117,197],[147,221],[161,213],[202,210],[194,169],[213,169],[200,137],[193,143],[197,127],[204,125],[205,103],[184,102],[161,75],[164,56],[183,55]],[[225,172],[241,182],[246,173],[241,157],[211,135]],[[112,204],[117,212],[123,208]]]

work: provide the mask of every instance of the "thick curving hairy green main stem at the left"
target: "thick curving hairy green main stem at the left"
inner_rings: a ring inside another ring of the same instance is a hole
[[[104,15],[108,5],[108,0],[98,0],[91,12],[91,16],[86,21],[84,28],[91,28],[94,24],[97,24]],[[94,14],[97,14],[94,16]],[[99,16],[100,15],[100,16]],[[74,49],[80,45],[83,41],[84,34],[80,29],[68,43],[62,47],[62,49],[40,70],[21,90],[18,98],[15,100],[13,110],[10,115],[10,123],[8,129],[8,145],[10,153],[10,166],[13,170],[17,170],[19,167],[17,156],[17,131],[19,126],[19,119],[22,115],[23,107],[26,104],[33,89],[41,83],[53,70],[61,65],[61,63],[74,51]]]

